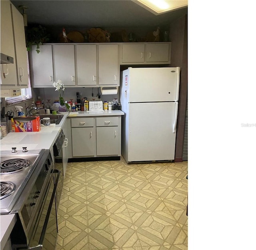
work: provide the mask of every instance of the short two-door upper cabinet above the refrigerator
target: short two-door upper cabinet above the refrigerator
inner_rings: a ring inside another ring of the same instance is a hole
[[[120,64],[170,64],[171,43],[122,44]]]

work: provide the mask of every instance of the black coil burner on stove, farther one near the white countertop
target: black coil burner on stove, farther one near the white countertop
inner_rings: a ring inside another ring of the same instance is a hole
[[[16,173],[28,168],[31,165],[31,161],[27,159],[17,158],[9,159],[1,162],[1,174]]]

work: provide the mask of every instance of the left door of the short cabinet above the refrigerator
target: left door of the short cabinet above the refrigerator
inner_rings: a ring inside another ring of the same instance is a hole
[[[122,62],[144,62],[144,44],[123,44]]]

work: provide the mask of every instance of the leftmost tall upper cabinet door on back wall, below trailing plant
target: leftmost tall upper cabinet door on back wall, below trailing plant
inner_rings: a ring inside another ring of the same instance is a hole
[[[40,45],[40,52],[36,52],[36,45],[32,46],[33,87],[52,86],[52,45]]]

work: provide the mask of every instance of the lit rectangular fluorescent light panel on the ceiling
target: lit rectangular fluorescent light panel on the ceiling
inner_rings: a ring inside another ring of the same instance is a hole
[[[188,0],[134,0],[133,2],[155,15],[188,6]]]

